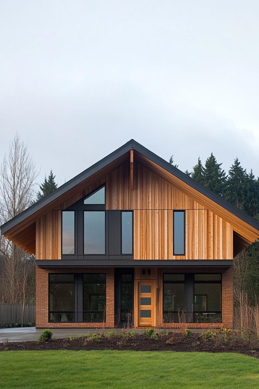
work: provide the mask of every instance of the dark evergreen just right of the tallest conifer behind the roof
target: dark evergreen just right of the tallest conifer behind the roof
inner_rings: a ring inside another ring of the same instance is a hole
[[[236,157],[233,165],[228,171],[228,180],[226,181],[226,189],[224,191],[224,198],[230,203],[245,210],[246,204],[246,183],[248,175],[246,169],[240,165],[240,161]]]

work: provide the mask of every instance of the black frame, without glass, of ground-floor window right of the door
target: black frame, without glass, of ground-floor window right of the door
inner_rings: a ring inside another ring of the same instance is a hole
[[[184,274],[184,281],[165,281],[164,275],[165,274]],[[213,280],[213,281],[195,281],[195,274],[217,274],[220,275],[220,280]],[[165,317],[165,314],[169,314],[169,311],[164,311],[164,284],[183,284],[184,283],[184,305],[185,305],[185,314],[186,319],[190,323],[197,323],[198,321],[195,320],[195,314],[196,313],[207,313],[207,314],[220,314],[220,321],[215,321],[215,323],[222,322],[222,273],[221,272],[195,272],[195,273],[174,273],[174,272],[165,272],[163,273],[163,318]],[[221,310],[220,311],[213,311],[207,310],[207,311],[194,311],[194,289],[195,284],[221,284]],[[182,311],[183,312],[183,311]],[[174,314],[177,313],[176,311],[170,311],[170,313]],[[165,321],[166,322],[166,321]],[[169,321],[168,321],[169,322]],[[203,323],[205,321],[199,321],[200,323]],[[209,321],[208,321],[209,323]],[[213,323],[213,321],[210,321],[210,323]]]

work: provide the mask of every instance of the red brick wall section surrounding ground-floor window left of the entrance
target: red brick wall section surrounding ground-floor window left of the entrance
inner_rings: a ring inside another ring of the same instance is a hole
[[[106,322],[114,327],[114,269],[113,268],[49,268],[36,266],[36,327],[97,328],[103,323],[49,323],[49,273],[106,273]]]

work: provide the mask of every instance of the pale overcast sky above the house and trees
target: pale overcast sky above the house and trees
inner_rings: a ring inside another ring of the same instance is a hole
[[[259,175],[258,1],[0,0],[0,159],[59,185],[134,138]]]

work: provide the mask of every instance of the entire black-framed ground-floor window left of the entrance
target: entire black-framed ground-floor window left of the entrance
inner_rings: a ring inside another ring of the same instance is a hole
[[[50,322],[103,322],[105,307],[105,274],[49,274]]]

